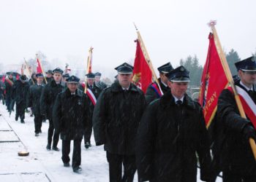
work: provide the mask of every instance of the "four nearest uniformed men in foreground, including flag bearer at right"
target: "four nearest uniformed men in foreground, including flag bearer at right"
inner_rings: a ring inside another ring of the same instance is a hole
[[[250,57],[236,63],[236,86],[252,109],[255,61]],[[219,97],[217,133],[211,133],[219,141],[213,142],[200,104],[186,93],[189,71],[184,66],[160,66],[158,83],[150,84],[145,95],[132,84],[132,69],[127,63],[116,67],[117,82],[102,91],[94,108],[94,138],[97,146],[104,144],[110,181],[133,181],[136,170],[138,181],[197,181],[197,159],[202,181],[216,180],[214,162],[225,182],[256,181],[249,146],[249,138],[256,141],[255,121],[240,116],[232,90]]]

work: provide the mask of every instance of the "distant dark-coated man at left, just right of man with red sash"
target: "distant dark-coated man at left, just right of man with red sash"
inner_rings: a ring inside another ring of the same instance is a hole
[[[29,91],[29,82],[26,75],[20,76],[20,79],[16,80],[12,87],[12,98],[16,103],[15,120],[18,121],[18,117],[20,117],[20,122],[25,123],[26,97]]]

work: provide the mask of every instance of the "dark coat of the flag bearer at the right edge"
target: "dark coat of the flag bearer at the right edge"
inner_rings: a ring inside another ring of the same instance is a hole
[[[246,90],[241,84],[236,83],[236,85]],[[255,91],[254,97],[251,98],[256,103]],[[242,135],[246,124],[252,123],[240,116],[233,93],[227,89],[223,90],[219,95],[217,130],[214,133],[214,137],[217,138],[214,143],[214,155],[219,159],[221,170],[228,168],[232,173],[241,176],[256,174],[256,162],[252,149]]]

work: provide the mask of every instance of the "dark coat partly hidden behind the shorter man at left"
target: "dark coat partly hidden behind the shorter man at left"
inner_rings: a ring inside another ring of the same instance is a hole
[[[63,90],[64,87],[61,83],[56,84],[55,80],[45,85],[40,97],[40,111],[42,115],[47,116],[48,119],[52,119],[54,101],[57,95]]]

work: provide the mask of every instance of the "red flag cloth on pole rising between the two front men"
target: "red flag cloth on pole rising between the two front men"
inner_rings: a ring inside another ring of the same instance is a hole
[[[152,73],[151,69],[148,66],[146,58],[143,55],[143,51],[140,47],[140,40],[137,39],[137,48],[135,55],[135,63],[133,69],[132,82],[137,85],[144,93],[148,88],[148,85],[152,82]]]

